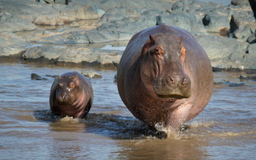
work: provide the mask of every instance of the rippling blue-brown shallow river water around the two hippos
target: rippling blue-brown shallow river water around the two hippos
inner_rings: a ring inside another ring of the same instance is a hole
[[[50,112],[53,78],[82,68],[0,63],[0,154],[2,159],[220,159],[254,158],[256,82],[241,73],[214,72],[213,97],[180,136],[158,139],[126,109],[114,82],[115,70],[89,69],[94,104],[85,120]],[[31,80],[31,73],[47,78]],[[217,83],[219,82],[219,83]],[[235,83],[236,85],[232,85]],[[233,86],[233,87],[232,87]]]

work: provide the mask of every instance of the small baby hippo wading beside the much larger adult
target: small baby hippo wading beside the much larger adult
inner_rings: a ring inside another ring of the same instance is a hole
[[[93,98],[88,78],[78,72],[66,72],[53,82],[50,109],[56,115],[84,118],[91,109]]]

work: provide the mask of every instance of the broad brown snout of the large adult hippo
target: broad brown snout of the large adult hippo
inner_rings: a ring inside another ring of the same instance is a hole
[[[158,78],[154,85],[155,94],[160,98],[190,98],[191,81],[188,75],[178,72]]]

